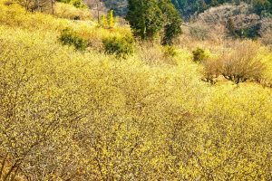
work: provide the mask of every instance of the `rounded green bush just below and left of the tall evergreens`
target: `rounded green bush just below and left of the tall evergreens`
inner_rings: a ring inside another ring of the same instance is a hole
[[[131,36],[109,37],[102,41],[106,53],[126,58],[134,52],[134,40]]]

